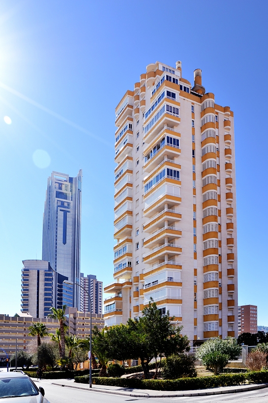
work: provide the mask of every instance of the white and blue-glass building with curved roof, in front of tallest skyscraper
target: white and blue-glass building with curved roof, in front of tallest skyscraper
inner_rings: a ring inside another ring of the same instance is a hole
[[[50,308],[62,305],[73,306],[73,285],[60,273],[54,273],[49,262],[44,260],[23,260],[21,311],[34,318],[44,318],[51,313]],[[53,296],[57,295],[57,305]]]

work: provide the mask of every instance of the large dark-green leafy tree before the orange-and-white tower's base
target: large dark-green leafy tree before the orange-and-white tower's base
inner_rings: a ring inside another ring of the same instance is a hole
[[[148,379],[149,362],[153,358],[189,351],[190,346],[187,336],[180,335],[182,328],[175,328],[171,324],[174,318],[169,317],[169,312],[162,315],[152,299],[142,313],[142,317],[129,319],[127,322],[131,332],[129,358],[140,358],[144,377]],[[159,366],[160,364],[156,367],[155,377]]]

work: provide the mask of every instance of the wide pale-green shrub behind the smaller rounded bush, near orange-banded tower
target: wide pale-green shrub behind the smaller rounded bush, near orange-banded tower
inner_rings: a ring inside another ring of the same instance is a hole
[[[207,354],[214,351],[227,354],[229,360],[236,360],[240,355],[241,347],[238,345],[235,337],[226,337],[223,340],[219,337],[212,337],[199,347],[196,353],[196,358],[203,361],[203,358]]]

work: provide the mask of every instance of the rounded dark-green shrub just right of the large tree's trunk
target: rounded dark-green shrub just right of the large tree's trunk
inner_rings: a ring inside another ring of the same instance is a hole
[[[165,360],[163,375],[165,379],[178,379],[196,376],[195,358],[186,354],[171,355]]]

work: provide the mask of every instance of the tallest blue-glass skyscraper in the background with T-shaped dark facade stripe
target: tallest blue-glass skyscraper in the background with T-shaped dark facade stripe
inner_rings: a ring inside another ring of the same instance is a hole
[[[80,279],[81,191],[82,169],[76,177],[53,171],[48,178],[43,216],[42,259],[74,283]],[[57,301],[54,292],[54,306]],[[79,304],[80,290],[74,285],[72,306],[79,309]]]

